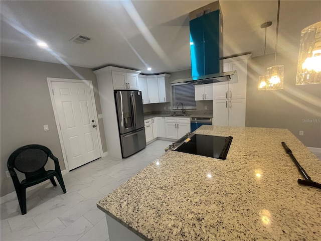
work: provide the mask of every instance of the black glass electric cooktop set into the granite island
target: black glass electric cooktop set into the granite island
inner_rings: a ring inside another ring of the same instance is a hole
[[[233,137],[188,133],[165,150],[190,153],[225,160]]]

